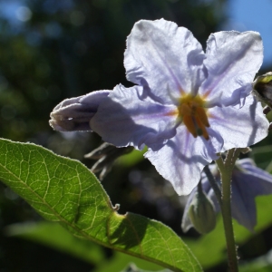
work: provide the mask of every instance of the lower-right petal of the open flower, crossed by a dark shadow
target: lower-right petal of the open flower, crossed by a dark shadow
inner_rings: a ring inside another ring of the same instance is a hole
[[[267,137],[268,121],[262,107],[253,96],[248,96],[244,107],[214,107],[209,109],[210,129],[224,139],[222,150],[245,148]]]

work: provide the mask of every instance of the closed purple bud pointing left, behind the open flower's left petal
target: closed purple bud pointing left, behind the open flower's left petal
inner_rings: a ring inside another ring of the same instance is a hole
[[[89,122],[110,91],[90,92],[65,99],[53,108],[49,121],[56,131],[91,131]]]

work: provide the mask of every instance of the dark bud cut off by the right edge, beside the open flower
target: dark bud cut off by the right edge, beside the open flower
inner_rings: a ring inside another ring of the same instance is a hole
[[[253,93],[272,109],[272,72],[262,74],[253,83]]]

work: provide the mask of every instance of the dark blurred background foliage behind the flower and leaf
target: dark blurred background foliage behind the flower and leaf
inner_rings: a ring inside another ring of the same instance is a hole
[[[0,1],[0,6],[5,2]],[[125,78],[123,52],[126,36],[140,19],[163,17],[186,26],[203,48],[209,34],[220,30],[225,21],[224,0],[16,3],[28,8],[21,10],[19,19],[0,16],[0,136],[32,141],[82,160],[88,167],[93,161],[83,160],[83,155],[101,144],[101,139],[88,132],[53,131],[48,124],[53,107],[65,98],[112,90],[118,83],[131,85]],[[131,168],[119,163],[102,184],[112,203],[121,204],[121,213],[129,210],[158,219],[184,235],[180,229],[184,199],[178,198],[149,161],[141,160]],[[6,226],[28,220],[41,218],[0,184],[0,271],[92,271],[90,264],[53,249],[5,237]],[[193,230],[187,235],[197,236]],[[263,245],[257,254],[270,246]],[[110,250],[104,250],[112,256]]]

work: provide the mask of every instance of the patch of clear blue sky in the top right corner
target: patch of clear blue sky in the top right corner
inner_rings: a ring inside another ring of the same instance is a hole
[[[227,12],[224,29],[259,32],[264,42],[263,68],[272,66],[272,0],[228,0]]]

